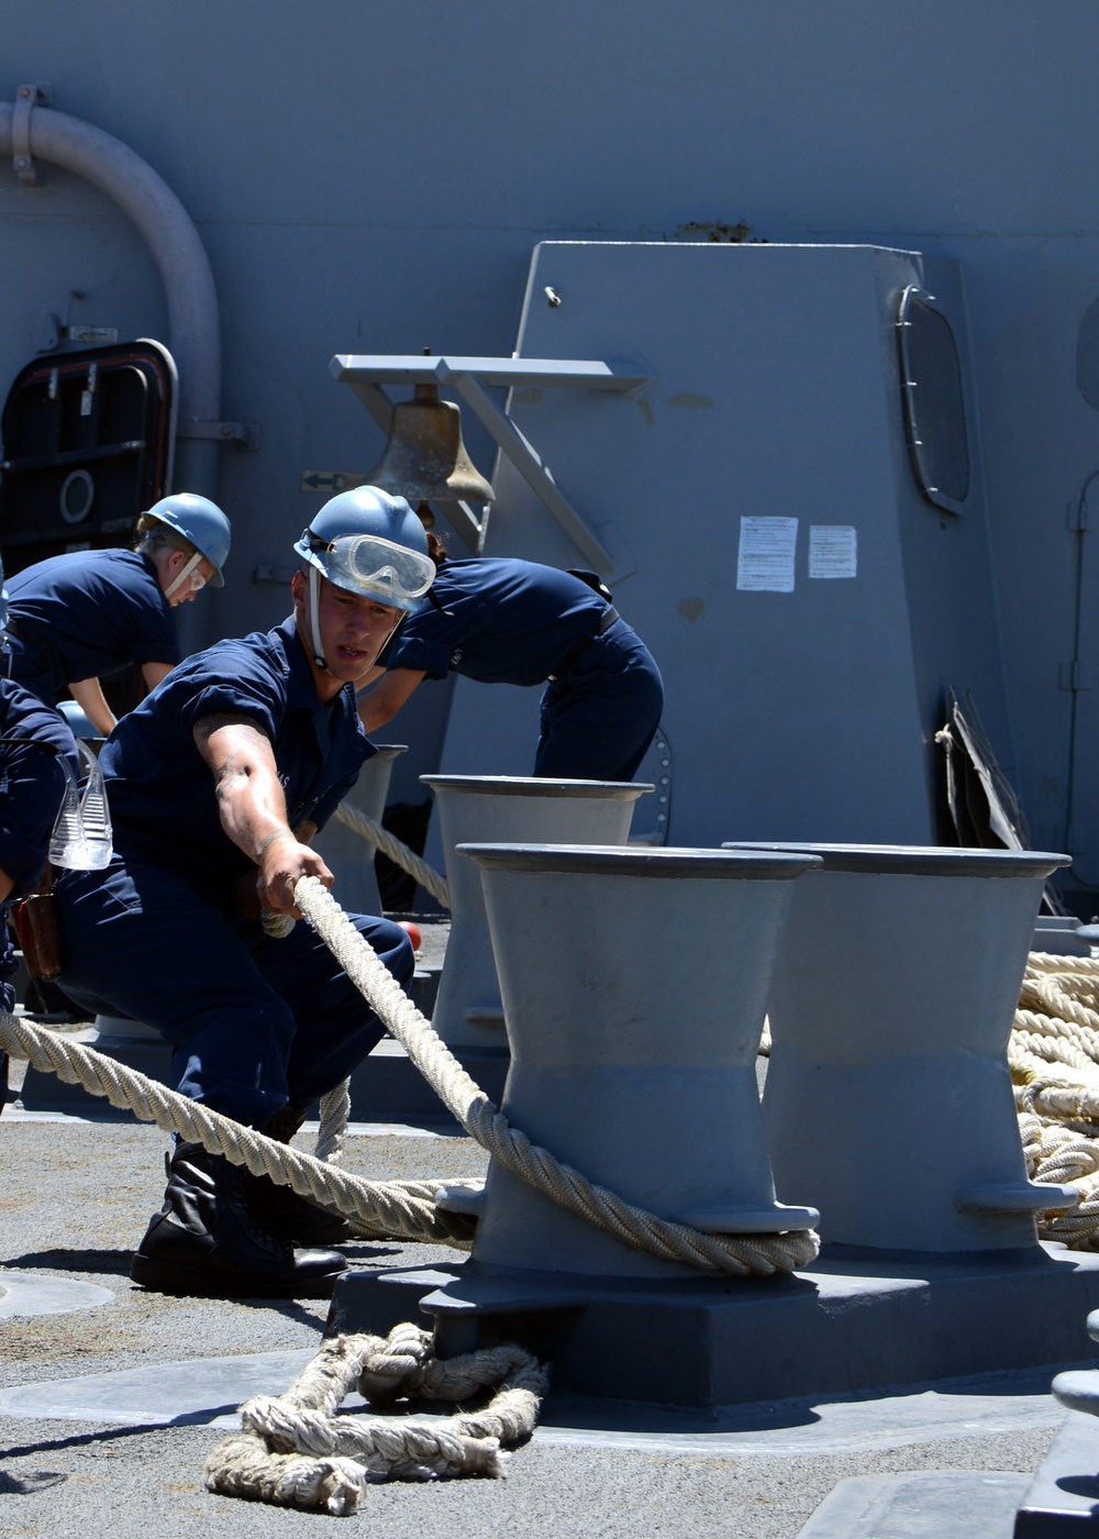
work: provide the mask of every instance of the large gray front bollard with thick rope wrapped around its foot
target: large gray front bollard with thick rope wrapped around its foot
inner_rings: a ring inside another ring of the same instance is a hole
[[[814,1210],[774,1199],[756,1087],[791,877],[813,859],[529,845],[462,854],[483,873],[513,1127],[660,1217],[714,1233],[814,1227]],[[699,1276],[594,1228],[496,1162],[473,1260]]]

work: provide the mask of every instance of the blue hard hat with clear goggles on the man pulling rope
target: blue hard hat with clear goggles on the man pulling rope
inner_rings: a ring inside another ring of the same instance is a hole
[[[377,486],[329,499],[294,549],[337,588],[394,609],[419,609],[436,576],[419,517],[403,497]]]

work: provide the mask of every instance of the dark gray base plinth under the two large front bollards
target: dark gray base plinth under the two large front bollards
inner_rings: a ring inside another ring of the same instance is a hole
[[[326,1334],[436,1319],[443,1356],[517,1340],[557,1393],[680,1407],[854,1394],[1079,1360],[1099,1256],[833,1253],[787,1277],[650,1282],[442,1270],[349,1271]]]

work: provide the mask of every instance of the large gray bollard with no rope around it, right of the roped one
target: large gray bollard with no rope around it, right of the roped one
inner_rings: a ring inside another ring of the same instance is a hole
[[[1007,1043],[1047,876],[1067,856],[736,843],[816,854],[770,1003],[776,1180],[825,1245],[1034,1247],[1071,1187],[1027,1180]]]

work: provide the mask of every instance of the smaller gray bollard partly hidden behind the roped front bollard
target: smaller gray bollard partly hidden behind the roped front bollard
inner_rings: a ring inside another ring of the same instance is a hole
[[[420,780],[436,796],[451,897],[451,933],[431,1025],[459,1056],[485,1048],[506,1053],[480,871],[456,859],[456,846],[514,840],[625,845],[634,802],[653,786],[533,776],[425,774]]]

